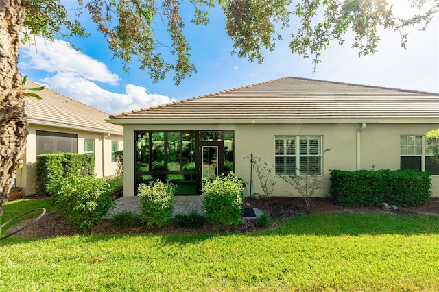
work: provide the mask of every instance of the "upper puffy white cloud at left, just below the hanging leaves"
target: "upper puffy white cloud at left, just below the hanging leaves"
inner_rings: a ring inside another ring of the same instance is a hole
[[[88,80],[117,84],[120,78],[108,70],[106,64],[73,49],[68,42],[50,42],[36,37],[36,47],[22,46],[20,49],[22,69],[38,69],[50,73],[74,72]],[[38,48],[38,51],[37,51]]]

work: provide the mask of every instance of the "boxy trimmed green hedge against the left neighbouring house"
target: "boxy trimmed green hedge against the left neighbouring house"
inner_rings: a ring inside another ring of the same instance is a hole
[[[56,153],[36,156],[37,191],[49,193],[51,182],[95,175],[95,154]]]

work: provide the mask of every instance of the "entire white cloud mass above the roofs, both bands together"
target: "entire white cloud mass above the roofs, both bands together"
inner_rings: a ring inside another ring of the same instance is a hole
[[[21,47],[19,67],[45,71],[47,77],[34,81],[84,104],[115,114],[175,101],[165,95],[147,93],[146,88],[134,84],[126,84],[125,93],[106,90],[95,82],[116,85],[120,80],[106,64],[75,51],[62,40],[45,42],[36,38],[36,42],[38,51]]]

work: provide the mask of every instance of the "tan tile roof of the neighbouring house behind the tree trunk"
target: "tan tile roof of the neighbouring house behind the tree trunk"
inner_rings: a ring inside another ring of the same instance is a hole
[[[27,82],[28,88],[39,84]],[[102,132],[123,135],[123,127],[106,122],[109,114],[82,104],[54,90],[43,89],[38,92],[43,99],[25,97],[24,114],[29,124],[69,127],[88,132]]]

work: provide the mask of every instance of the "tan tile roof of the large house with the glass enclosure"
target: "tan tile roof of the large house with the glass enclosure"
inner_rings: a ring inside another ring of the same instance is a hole
[[[111,123],[179,120],[322,121],[434,119],[439,94],[283,77],[110,116]],[[126,120],[126,121],[124,121]],[[433,122],[433,121],[432,121]]]

